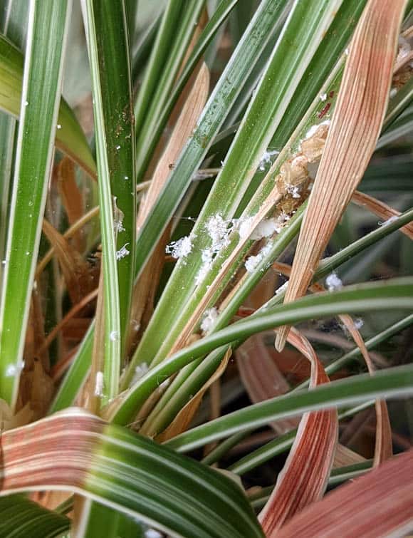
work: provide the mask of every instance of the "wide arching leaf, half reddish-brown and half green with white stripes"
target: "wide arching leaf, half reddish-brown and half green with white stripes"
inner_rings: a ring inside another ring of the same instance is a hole
[[[21,435],[30,442],[21,444]],[[243,490],[233,480],[82,410],[70,409],[6,432],[2,450],[1,495],[11,488],[58,486],[172,536],[263,537]],[[30,472],[22,463],[27,457]]]

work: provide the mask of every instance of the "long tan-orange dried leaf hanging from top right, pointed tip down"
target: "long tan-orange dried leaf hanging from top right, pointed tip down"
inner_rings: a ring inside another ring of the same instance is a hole
[[[328,240],[375,150],[407,0],[369,0],[350,45],[337,105],[308,200],[284,301],[305,294]],[[288,327],[278,330],[284,346]]]

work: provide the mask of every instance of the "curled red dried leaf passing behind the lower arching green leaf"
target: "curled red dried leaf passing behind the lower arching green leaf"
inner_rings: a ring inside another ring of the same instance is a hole
[[[292,329],[288,341],[311,363],[310,388],[328,383],[323,365],[308,340]],[[276,487],[259,515],[266,537],[278,536],[278,530],[291,517],[323,496],[333,465],[337,437],[336,410],[303,415]]]

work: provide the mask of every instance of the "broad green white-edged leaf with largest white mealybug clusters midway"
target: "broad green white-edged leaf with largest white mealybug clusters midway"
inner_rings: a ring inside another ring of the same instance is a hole
[[[211,284],[209,271],[201,270],[205,264],[204,252],[211,247],[211,237],[205,233],[207,222],[216,215],[224,220],[234,217],[246,187],[338,6],[340,1],[325,0],[306,0],[294,4],[226,155],[224,167],[216,178],[192,230],[192,250],[177,262],[132,359],[125,381],[130,381],[132,371],[143,355],[146,361],[149,359],[152,363],[153,360],[152,364],[159,363],[167,356],[175,339],[202,300]],[[300,36],[298,43],[294,41],[297,35]],[[225,73],[222,76],[224,75]],[[149,220],[150,217],[147,222]],[[199,274],[203,276],[200,277]],[[155,333],[157,338],[154,338]],[[161,348],[159,343],[162,343]]]

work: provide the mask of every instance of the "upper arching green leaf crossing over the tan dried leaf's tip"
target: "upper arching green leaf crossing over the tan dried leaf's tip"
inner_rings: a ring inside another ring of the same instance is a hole
[[[238,321],[192,343],[155,368],[151,368],[135,385],[120,395],[108,413],[115,423],[129,423],[150,393],[159,386],[160,380],[164,381],[180,368],[222,344],[234,342],[239,338],[248,338],[254,333],[274,329],[287,322],[296,324],[307,319],[375,311],[380,308],[410,309],[413,304],[412,296],[412,279],[392,279],[373,284],[347,286],[341,291],[304,297],[288,305],[268,306],[248,319]],[[226,351],[226,347],[223,346],[223,349]]]

